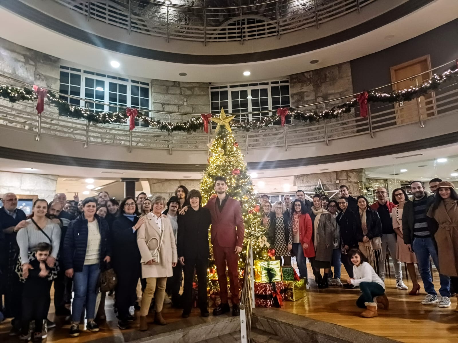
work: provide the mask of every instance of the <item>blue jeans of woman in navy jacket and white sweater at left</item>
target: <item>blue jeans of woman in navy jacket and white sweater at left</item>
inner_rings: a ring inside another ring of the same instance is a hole
[[[94,319],[95,303],[97,300],[97,282],[100,268],[97,264],[86,264],[82,272],[73,274],[73,290],[75,297],[71,311],[71,321],[80,322],[81,314],[86,304],[86,318]]]

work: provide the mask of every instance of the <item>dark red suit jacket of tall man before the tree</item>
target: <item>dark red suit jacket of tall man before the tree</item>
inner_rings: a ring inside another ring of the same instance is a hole
[[[243,247],[245,226],[243,225],[242,208],[240,202],[229,197],[220,213],[217,204],[218,197],[208,200],[205,207],[212,215],[212,233],[210,241],[220,247]],[[218,200],[219,203],[219,200]],[[235,230],[237,227],[237,230]]]

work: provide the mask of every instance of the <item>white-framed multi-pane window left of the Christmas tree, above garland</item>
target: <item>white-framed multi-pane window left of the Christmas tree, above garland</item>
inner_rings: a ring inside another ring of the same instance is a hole
[[[60,98],[72,105],[94,109],[96,112],[117,112],[124,107],[150,109],[150,83],[83,70],[65,65],[60,66],[60,93],[78,96],[104,104],[85,102],[65,95]],[[136,123],[145,125],[144,123]]]

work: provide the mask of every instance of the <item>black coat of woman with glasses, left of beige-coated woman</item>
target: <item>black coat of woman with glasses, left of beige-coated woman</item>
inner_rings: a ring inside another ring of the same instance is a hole
[[[111,229],[111,242],[113,250],[112,264],[115,270],[129,270],[141,268],[140,250],[137,245],[137,231],[132,230],[138,217],[131,221],[120,214],[113,222]]]

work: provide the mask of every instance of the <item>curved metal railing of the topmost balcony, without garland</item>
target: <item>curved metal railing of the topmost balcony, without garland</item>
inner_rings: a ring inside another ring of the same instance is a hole
[[[157,0],[53,0],[87,17],[131,32],[203,42],[277,36],[320,25],[376,0],[271,0],[234,7],[198,7]],[[183,1],[182,1],[183,2]],[[198,1],[197,1],[198,3]],[[203,1],[202,1],[203,3]]]

